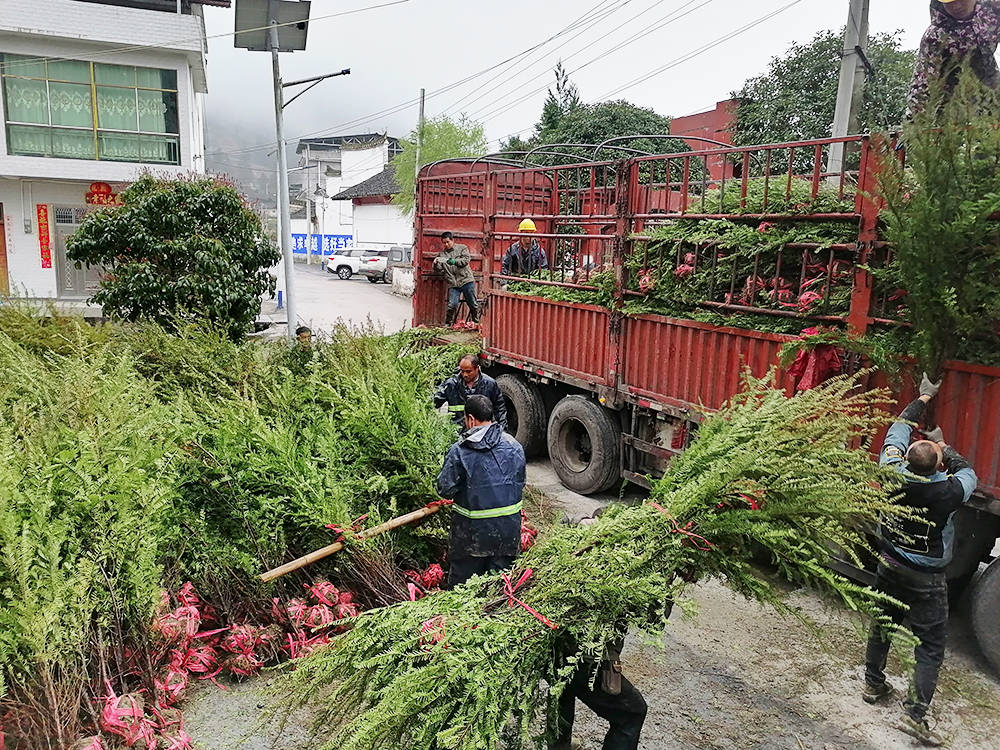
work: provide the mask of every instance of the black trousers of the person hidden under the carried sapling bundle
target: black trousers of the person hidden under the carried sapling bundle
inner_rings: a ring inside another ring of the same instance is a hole
[[[559,716],[556,728],[556,746],[569,747],[576,714],[576,699],[607,721],[611,726],[604,736],[602,750],[638,750],[639,734],[646,720],[646,701],[636,687],[622,676],[622,691],[610,695],[601,690],[600,679],[590,689],[589,669],[577,670],[573,681],[559,696]]]

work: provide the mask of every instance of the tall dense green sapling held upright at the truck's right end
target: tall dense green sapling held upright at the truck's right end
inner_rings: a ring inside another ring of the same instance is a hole
[[[996,93],[973,75],[950,95],[938,82],[905,128],[905,168],[888,159],[881,172],[896,256],[889,281],[908,293],[912,354],[930,373],[963,350],[1000,351],[997,112]]]

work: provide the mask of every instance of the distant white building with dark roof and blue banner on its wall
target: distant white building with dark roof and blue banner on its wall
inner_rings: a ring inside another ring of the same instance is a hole
[[[411,244],[413,219],[391,204],[399,187],[389,161],[399,151],[396,138],[378,133],[299,141],[295,199],[302,208],[292,217],[295,252],[305,254],[310,237],[314,256],[338,247]]]

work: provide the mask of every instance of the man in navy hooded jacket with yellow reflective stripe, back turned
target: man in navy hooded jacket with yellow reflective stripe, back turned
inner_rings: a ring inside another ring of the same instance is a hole
[[[465,427],[437,481],[438,494],[455,501],[449,588],[474,575],[508,570],[521,550],[524,449],[493,421],[493,405],[485,396],[465,402]]]

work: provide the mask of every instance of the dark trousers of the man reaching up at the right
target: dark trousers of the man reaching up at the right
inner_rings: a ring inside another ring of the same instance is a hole
[[[948,583],[944,573],[920,573],[897,565],[879,563],[875,589],[909,606],[909,612],[887,607],[894,625],[908,620],[920,643],[913,649],[916,668],[903,707],[914,719],[922,719],[937,688],[938,671],[944,661],[948,640]],[[878,687],[885,682],[885,661],[889,655],[888,633],[873,625],[865,654],[865,682]]]

